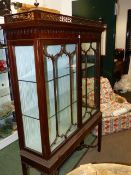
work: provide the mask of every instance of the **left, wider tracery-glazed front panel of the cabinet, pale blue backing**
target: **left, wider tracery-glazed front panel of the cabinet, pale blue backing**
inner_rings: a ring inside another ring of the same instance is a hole
[[[51,151],[77,130],[76,44],[44,45]]]

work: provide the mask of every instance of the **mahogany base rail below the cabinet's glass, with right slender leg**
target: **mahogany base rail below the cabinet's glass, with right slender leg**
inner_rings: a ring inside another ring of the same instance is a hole
[[[83,128],[80,128],[66,144],[62,145],[56,153],[48,160],[34,154],[31,151],[21,149],[20,155],[23,164],[27,164],[43,171],[45,174],[53,175],[59,166],[69,157],[69,155],[81,144],[84,138],[98,125],[98,151],[101,150],[101,112],[91,118]]]

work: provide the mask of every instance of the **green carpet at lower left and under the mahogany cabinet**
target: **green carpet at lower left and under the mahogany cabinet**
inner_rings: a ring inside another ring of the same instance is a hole
[[[94,140],[95,137],[89,135],[85,139],[85,143],[90,144]],[[78,164],[86,151],[87,149],[85,148],[80,151],[75,151],[60,167],[59,175],[65,175],[67,172],[71,171]],[[0,151],[0,175],[22,175],[18,141],[12,143]],[[31,168],[29,175],[41,174]]]

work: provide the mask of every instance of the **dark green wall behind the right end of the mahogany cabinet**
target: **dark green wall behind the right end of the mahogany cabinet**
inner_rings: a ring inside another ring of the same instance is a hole
[[[79,0],[73,2],[72,14],[88,19],[98,20],[103,18],[107,24],[106,56],[102,61],[102,74],[113,82],[114,48],[115,48],[115,15],[114,0]]]

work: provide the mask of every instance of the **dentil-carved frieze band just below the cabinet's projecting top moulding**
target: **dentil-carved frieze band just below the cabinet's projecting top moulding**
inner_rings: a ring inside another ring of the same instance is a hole
[[[34,38],[79,38],[79,31],[63,30],[63,29],[51,29],[51,28],[41,28],[41,27],[30,27],[30,28],[19,28],[6,30],[6,38],[9,40],[15,39],[34,39]],[[90,40],[97,40],[100,38],[101,33],[81,32],[81,38]]]

